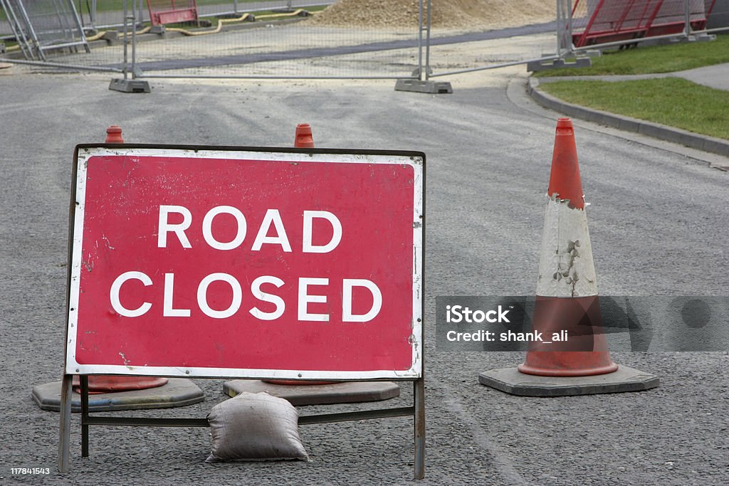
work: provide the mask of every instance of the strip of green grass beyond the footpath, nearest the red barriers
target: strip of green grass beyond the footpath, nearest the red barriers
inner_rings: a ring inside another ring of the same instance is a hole
[[[712,42],[636,47],[604,52],[593,58],[590,68],[549,69],[535,73],[536,77],[593,76],[604,74],[670,73],[685,69],[729,63],[729,35],[719,35]]]

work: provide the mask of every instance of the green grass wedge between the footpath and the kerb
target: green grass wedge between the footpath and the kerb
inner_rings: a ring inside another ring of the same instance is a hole
[[[729,92],[685,79],[556,81],[539,88],[569,103],[729,139]]]

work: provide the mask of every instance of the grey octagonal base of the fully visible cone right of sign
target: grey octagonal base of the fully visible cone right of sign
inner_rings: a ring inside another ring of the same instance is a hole
[[[518,396],[573,396],[650,390],[660,385],[655,375],[628,367],[606,375],[550,377],[526,375],[516,368],[491,369],[478,375],[482,385]]]

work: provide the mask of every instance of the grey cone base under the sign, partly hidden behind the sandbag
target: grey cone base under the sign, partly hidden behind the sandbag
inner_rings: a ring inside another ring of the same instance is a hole
[[[260,393],[286,399],[292,405],[321,405],[381,401],[400,394],[397,383],[391,382],[344,382],[331,385],[277,385],[262,380],[231,380],[223,383],[223,393],[235,396],[243,391]]]

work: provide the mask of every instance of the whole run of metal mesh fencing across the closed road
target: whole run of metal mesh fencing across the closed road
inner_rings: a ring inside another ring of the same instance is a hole
[[[160,7],[159,1],[149,4]],[[693,33],[712,28],[713,19],[726,19],[714,28],[729,26],[729,0],[523,0],[499,9],[486,8],[493,7],[490,0],[473,0],[469,7],[392,0],[376,12],[363,9],[360,0],[165,2],[195,6],[198,20],[152,26],[147,0],[87,1],[79,12],[82,26],[74,27],[67,19],[72,0],[0,0],[5,11],[33,4],[26,15],[39,26],[39,44],[56,43],[44,51],[44,62],[34,64],[141,78],[428,79],[565,58],[649,34],[681,36],[687,18]],[[15,42],[31,34],[0,25],[10,32],[4,58],[31,58]],[[84,31],[90,52],[58,47],[77,42]]]

